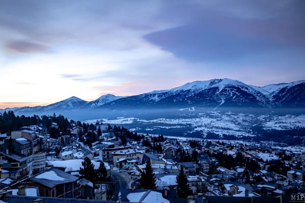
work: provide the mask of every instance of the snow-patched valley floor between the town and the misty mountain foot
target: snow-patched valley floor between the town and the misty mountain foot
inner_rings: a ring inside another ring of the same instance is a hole
[[[117,119],[98,119],[100,122],[113,125],[123,125],[133,131],[151,134],[173,135],[169,131],[179,131],[182,136],[200,133],[205,137],[207,133],[216,133],[222,138],[224,135],[239,137],[257,136],[253,127],[263,130],[288,130],[305,128],[305,115],[253,115],[236,114],[232,112],[220,113],[218,111],[197,112],[195,115],[184,114],[177,118],[141,119],[135,117],[119,117]],[[84,122],[95,123],[97,120]],[[180,136],[181,136],[180,135]]]

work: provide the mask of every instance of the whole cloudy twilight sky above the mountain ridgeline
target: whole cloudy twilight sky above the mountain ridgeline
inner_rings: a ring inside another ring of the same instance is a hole
[[[305,1],[0,1],[0,108],[305,80]]]

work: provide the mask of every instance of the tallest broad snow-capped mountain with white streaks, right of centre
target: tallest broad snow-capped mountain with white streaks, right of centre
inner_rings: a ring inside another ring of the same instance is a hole
[[[250,85],[231,79],[195,81],[170,90],[148,92],[112,101],[106,106],[124,107],[264,107],[268,97]]]

